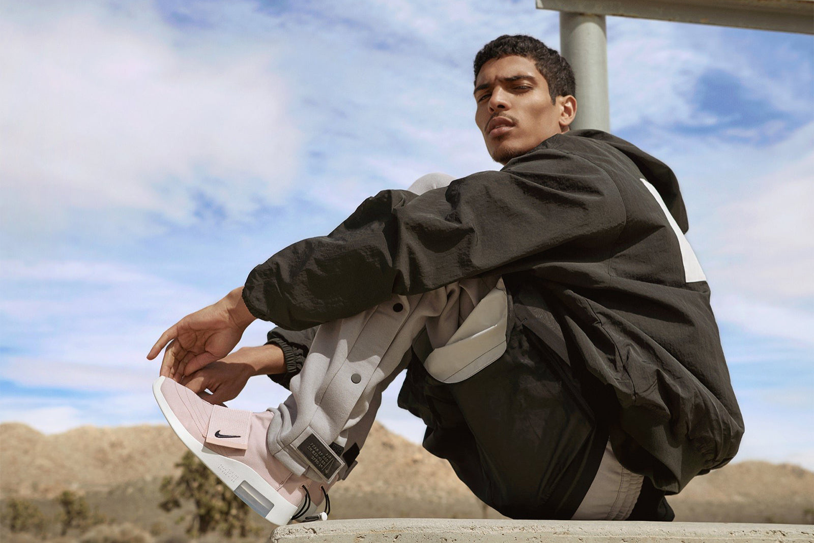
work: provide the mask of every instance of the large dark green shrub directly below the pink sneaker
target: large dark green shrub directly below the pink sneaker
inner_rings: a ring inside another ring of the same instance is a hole
[[[228,537],[256,533],[250,520],[252,510],[195,458],[195,454],[186,451],[176,467],[181,468],[177,478],[167,476],[161,481],[164,501],[159,506],[171,511],[180,507],[182,500],[192,500],[195,511],[186,533],[193,537],[216,530]]]

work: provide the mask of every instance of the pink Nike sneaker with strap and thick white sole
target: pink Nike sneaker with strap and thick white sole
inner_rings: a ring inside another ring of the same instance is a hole
[[[278,526],[292,518],[326,518],[328,485],[295,476],[269,454],[265,436],[273,413],[213,406],[163,376],[153,394],[184,445],[258,515]],[[323,497],[326,513],[319,515]]]

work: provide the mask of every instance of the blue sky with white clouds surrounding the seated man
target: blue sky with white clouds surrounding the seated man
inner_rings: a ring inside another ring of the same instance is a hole
[[[673,167],[747,433],[814,469],[814,41],[608,18],[612,131]],[[497,169],[471,60],[495,2],[3,2],[0,419],[160,423],[144,355],[362,199]],[[263,341],[253,324],[242,345]],[[418,441],[395,406],[379,417]],[[233,406],[282,389],[250,382]]]

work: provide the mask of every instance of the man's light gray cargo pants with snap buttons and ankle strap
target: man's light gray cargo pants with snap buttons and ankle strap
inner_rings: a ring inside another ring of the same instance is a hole
[[[422,193],[452,179],[429,174],[410,190]],[[342,455],[364,445],[382,392],[409,363],[416,338],[427,331],[432,351],[424,366],[431,376],[456,383],[503,354],[506,311],[502,281],[485,277],[395,295],[359,315],[322,324],[302,370],[291,379],[291,396],[271,410],[269,452],[296,475],[328,483],[344,479],[355,462]],[[627,518],[641,483],[641,476],[619,464],[609,444],[573,518]]]

